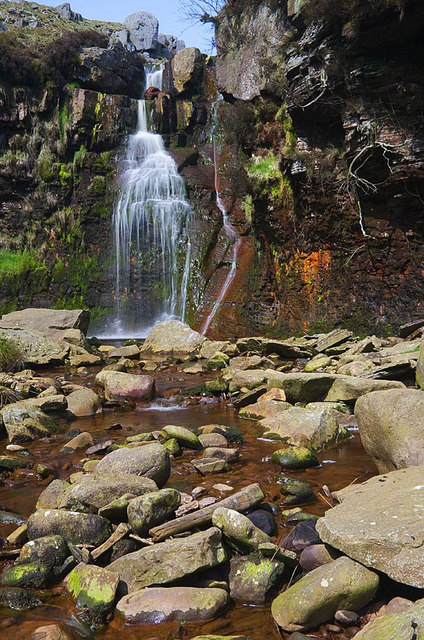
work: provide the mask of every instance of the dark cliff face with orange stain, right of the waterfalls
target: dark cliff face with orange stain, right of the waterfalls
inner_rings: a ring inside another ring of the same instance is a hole
[[[258,330],[422,315],[423,23],[415,0],[221,12],[228,195],[251,219],[260,268],[243,308]]]

